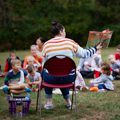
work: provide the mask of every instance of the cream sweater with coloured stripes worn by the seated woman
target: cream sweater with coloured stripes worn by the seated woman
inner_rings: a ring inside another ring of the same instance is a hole
[[[91,57],[96,51],[96,47],[83,49],[71,39],[55,37],[44,43],[42,54],[46,61],[56,55],[65,55],[70,58],[73,58],[75,55],[77,57],[88,58]]]

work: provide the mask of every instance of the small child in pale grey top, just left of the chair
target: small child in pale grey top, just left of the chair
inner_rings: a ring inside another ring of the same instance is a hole
[[[36,72],[35,67],[33,65],[29,65],[27,67],[27,71],[28,71],[28,75],[26,81],[29,87],[32,88],[32,91],[37,92],[38,85],[41,83],[41,75],[39,72]]]

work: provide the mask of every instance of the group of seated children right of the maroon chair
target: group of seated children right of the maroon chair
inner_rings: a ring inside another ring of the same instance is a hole
[[[91,58],[80,59],[75,81],[77,89],[88,89],[83,77],[93,78],[90,80],[90,91],[114,90],[112,80],[120,80],[120,45],[117,46],[115,54],[108,55],[108,62],[103,62],[101,50]]]

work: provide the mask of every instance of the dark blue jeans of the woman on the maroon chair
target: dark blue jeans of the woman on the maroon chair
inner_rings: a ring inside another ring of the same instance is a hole
[[[58,77],[58,76],[52,76],[46,70],[43,70],[42,78],[45,82],[49,84],[68,84],[68,83],[72,83],[75,81],[76,73],[75,71],[74,72],[72,71],[68,76]],[[52,98],[52,90],[53,88],[48,88],[48,87],[45,88],[46,98]],[[69,89],[62,88],[60,90],[62,92],[64,99],[68,99]]]

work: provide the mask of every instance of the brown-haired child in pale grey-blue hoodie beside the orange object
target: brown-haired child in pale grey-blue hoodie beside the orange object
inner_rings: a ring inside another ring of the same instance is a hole
[[[110,65],[104,63],[101,67],[101,72],[102,74],[100,75],[100,77],[90,81],[90,91],[94,91],[94,86],[97,86],[98,91],[114,90],[114,85],[112,83],[113,76],[111,75]]]

